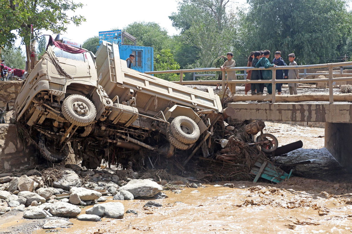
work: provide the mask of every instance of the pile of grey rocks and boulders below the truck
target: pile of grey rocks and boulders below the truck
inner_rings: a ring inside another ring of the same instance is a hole
[[[113,200],[164,199],[167,196],[162,190],[152,179],[138,179],[138,173],[132,170],[83,170],[70,164],[44,171],[3,173],[0,174],[0,215],[15,210],[24,212],[25,219],[48,219],[43,229],[69,227],[72,223],[68,218],[94,222],[101,221],[102,217],[122,219],[124,205],[106,202],[109,196]],[[149,203],[149,207],[162,206]],[[88,205],[93,207],[81,214],[81,207]],[[129,209],[126,213],[137,214]]]

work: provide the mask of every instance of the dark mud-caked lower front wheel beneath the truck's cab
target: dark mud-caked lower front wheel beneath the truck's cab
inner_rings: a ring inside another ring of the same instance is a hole
[[[67,143],[64,146],[57,146],[54,141],[43,136],[39,139],[38,150],[42,157],[50,162],[61,162],[70,152]]]

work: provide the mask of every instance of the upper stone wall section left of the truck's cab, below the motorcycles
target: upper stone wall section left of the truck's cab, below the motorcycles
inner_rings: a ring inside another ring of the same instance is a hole
[[[6,102],[15,101],[23,85],[23,81],[0,81],[0,108],[6,107]],[[9,103],[10,106],[14,102]]]

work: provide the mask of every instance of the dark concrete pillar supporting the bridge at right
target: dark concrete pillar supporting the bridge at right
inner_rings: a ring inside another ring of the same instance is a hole
[[[352,123],[325,123],[325,147],[352,172]]]

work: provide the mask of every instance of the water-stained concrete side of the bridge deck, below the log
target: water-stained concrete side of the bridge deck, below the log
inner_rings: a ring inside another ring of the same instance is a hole
[[[352,123],[352,103],[335,102],[230,102],[232,120],[268,120]]]

